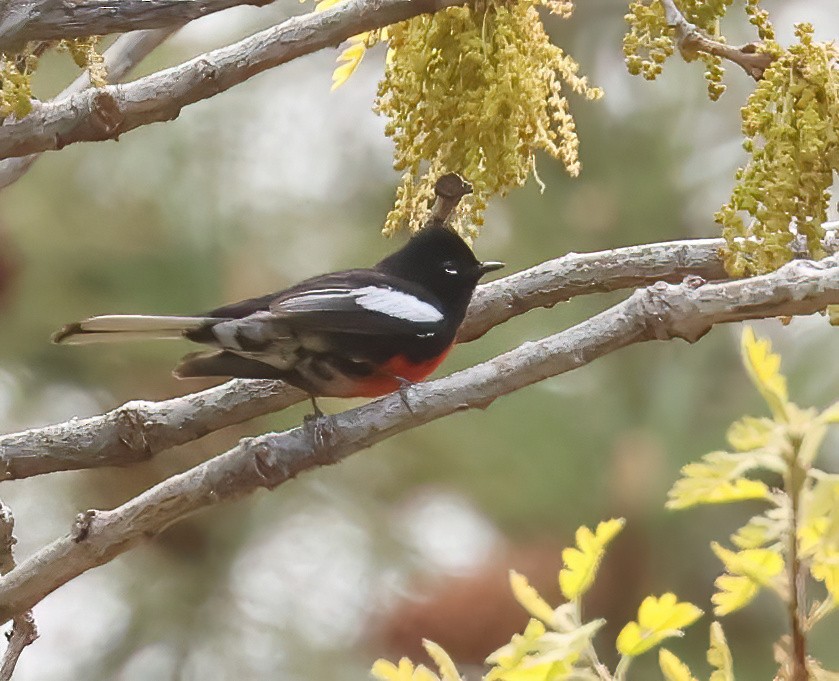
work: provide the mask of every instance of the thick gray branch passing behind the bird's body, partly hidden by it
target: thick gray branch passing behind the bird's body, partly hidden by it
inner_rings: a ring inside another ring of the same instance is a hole
[[[537,307],[577,295],[636,288],[693,275],[726,277],[722,239],[696,239],[569,253],[478,288],[460,342]],[[101,416],[0,436],[0,479],[125,466],[211,431],[279,411],[303,394],[272,381],[230,381],[163,402],[129,402]]]

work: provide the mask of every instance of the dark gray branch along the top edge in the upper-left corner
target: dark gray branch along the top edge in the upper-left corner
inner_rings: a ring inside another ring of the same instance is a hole
[[[60,40],[182,26],[237,5],[273,0],[9,0],[0,5],[0,52]]]

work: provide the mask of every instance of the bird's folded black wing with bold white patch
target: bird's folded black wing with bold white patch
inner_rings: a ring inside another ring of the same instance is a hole
[[[277,296],[269,311],[304,332],[430,334],[445,325],[433,295],[374,270],[309,279]]]

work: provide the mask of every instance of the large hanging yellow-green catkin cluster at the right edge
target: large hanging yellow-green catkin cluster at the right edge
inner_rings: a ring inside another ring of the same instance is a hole
[[[752,156],[716,216],[726,268],[737,276],[790,260],[796,233],[807,237],[812,257],[824,255],[822,223],[839,171],[839,48],[812,34],[812,26],[800,24],[798,44],[786,51],[770,46],[778,57],[742,110]]]

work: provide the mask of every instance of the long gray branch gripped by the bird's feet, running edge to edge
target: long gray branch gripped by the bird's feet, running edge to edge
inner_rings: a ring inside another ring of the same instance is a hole
[[[658,282],[577,326],[527,342],[488,362],[412,386],[329,417],[322,447],[313,430],[246,438],[110,511],[81,514],[72,531],[0,578],[0,621],[30,609],[83,572],[202,508],[273,489],[297,474],[336,463],[402,431],[496,398],[633,343],[698,340],[715,324],[812,314],[839,303],[839,259],[794,261],[760,277],[704,284]]]

